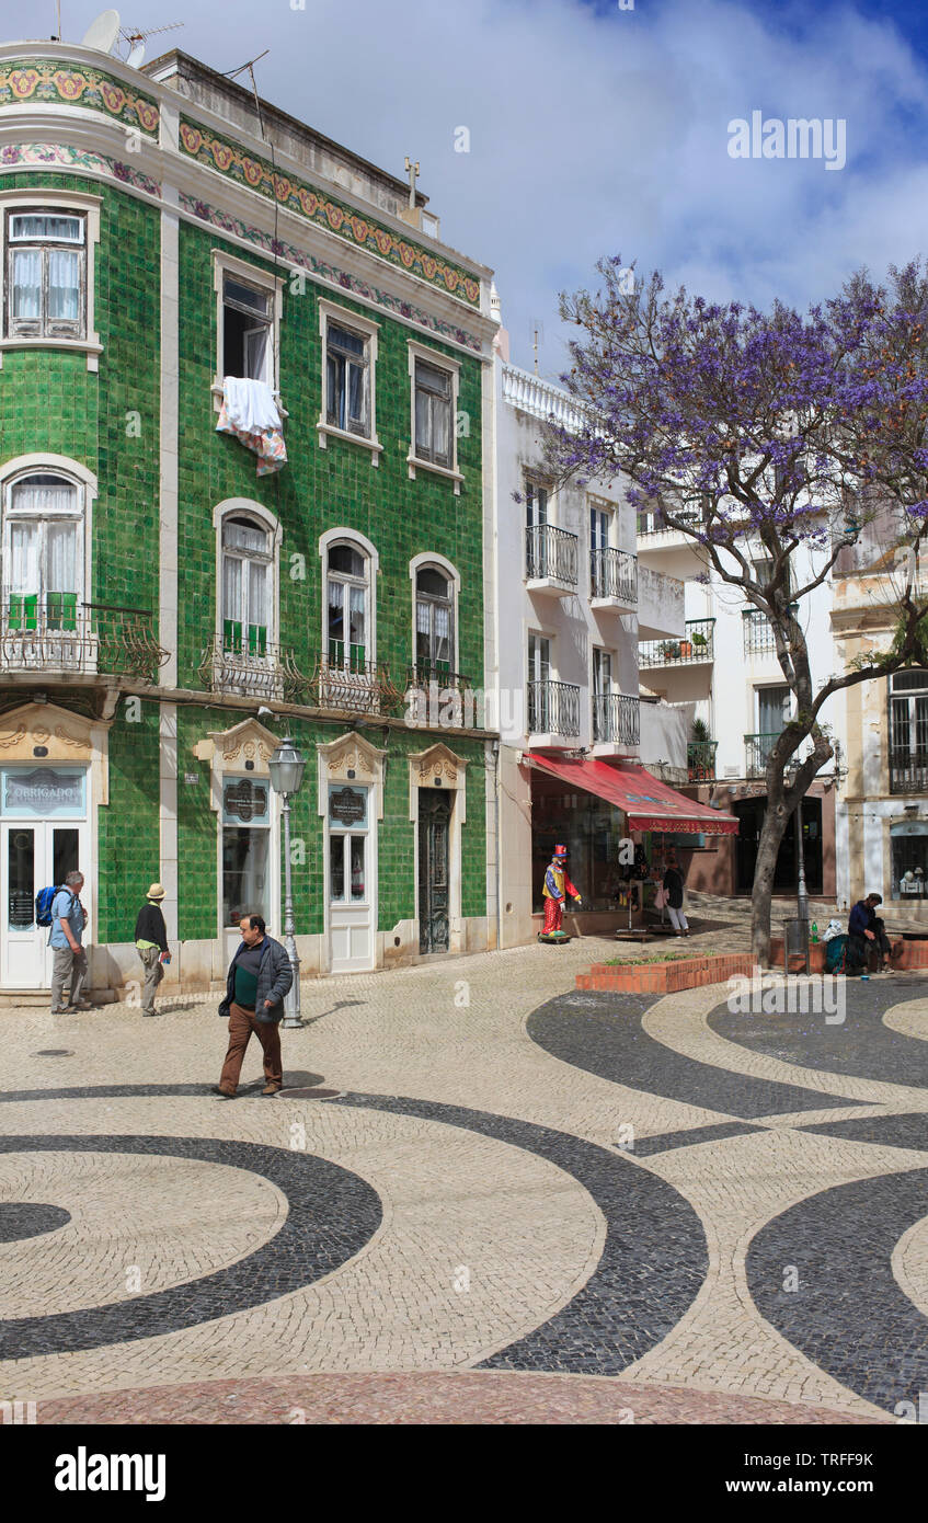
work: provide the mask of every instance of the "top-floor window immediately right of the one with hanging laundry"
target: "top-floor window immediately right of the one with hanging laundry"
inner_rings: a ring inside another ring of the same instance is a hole
[[[329,434],[354,439],[372,451],[375,466],[382,448],[375,402],[378,324],[323,300],[318,323],[323,353],[318,443],[325,449]]]

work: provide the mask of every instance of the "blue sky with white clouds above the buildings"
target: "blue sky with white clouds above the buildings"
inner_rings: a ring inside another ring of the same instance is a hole
[[[492,265],[512,358],[562,367],[558,289],[602,254],[716,299],[798,306],[858,265],[928,253],[928,15],[916,0],[145,0],[262,94],[421,186],[442,235]],[[101,8],[61,0],[79,40]],[[47,15],[46,15],[47,12]],[[0,0],[0,35],[50,35],[53,0]],[[847,163],[734,160],[728,123],[846,122]],[[466,126],[471,151],[454,151]]]

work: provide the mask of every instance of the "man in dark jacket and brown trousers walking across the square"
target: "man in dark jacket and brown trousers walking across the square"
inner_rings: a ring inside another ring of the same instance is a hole
[[[229,1017],[229,1051],[222,1063],[215,1094],[235,1100],[245,1048],[256,1034],[264,1048],[264,1095],[276,1095],[283,1086],[279,1020],[283,996],[293,984],[293,967],[286,949],[268,937],[261,915],[244,915],[239,923],[242,941],[226,979],[226,999],[219,1005]]]

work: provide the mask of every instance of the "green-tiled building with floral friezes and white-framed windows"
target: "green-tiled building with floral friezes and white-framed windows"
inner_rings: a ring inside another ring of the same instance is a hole
[[[413,203],[413,204],[410,204]],[[489,271],[419,192],[210,69],[0,47],[0,988],[283,928],[305,973],[495,944]]]

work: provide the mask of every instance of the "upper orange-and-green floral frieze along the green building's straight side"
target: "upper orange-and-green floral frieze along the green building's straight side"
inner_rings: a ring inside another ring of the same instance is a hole
[[[189,154],[190,158],[195,158],[201,164],[209,164],[210,169],[216,169],[238,184],[267,196],[270,201],[276,200],[290,212],[296,212],[297,216],[305,216],[308,221],[317,222],[320,227],[326,227],[347,242],[355,244],[358,248],[366,248],[379,259],[387,259],[390,263],[408,270],[410,274],[428,280],[430,285],[446,291],[460,302],[468,302],[471,306],[480,305],[480,282],[465,270],[440,259],[437,254],[430,254],[425,248],[390,231],[390,228],[379,227],[376,222],[352,210],[352,207],[329,200],[329,196],[320,190],[314,190],[303,180],[280,174],[267,160],[253,158],[232,143],[213,137],[204,126],[181,120],[180,145],[183,152]]]

